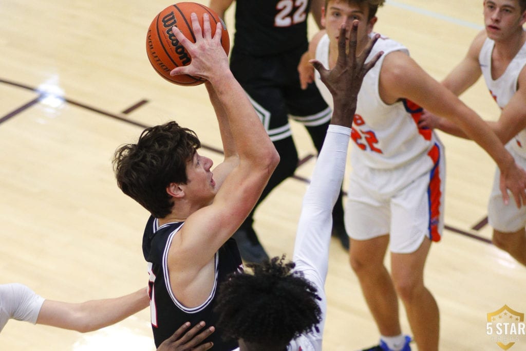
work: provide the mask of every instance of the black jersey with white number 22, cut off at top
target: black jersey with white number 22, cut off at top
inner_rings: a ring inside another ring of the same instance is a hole
[[[310,0],[236,0],[234,50],[254,56],[307,47]]]

